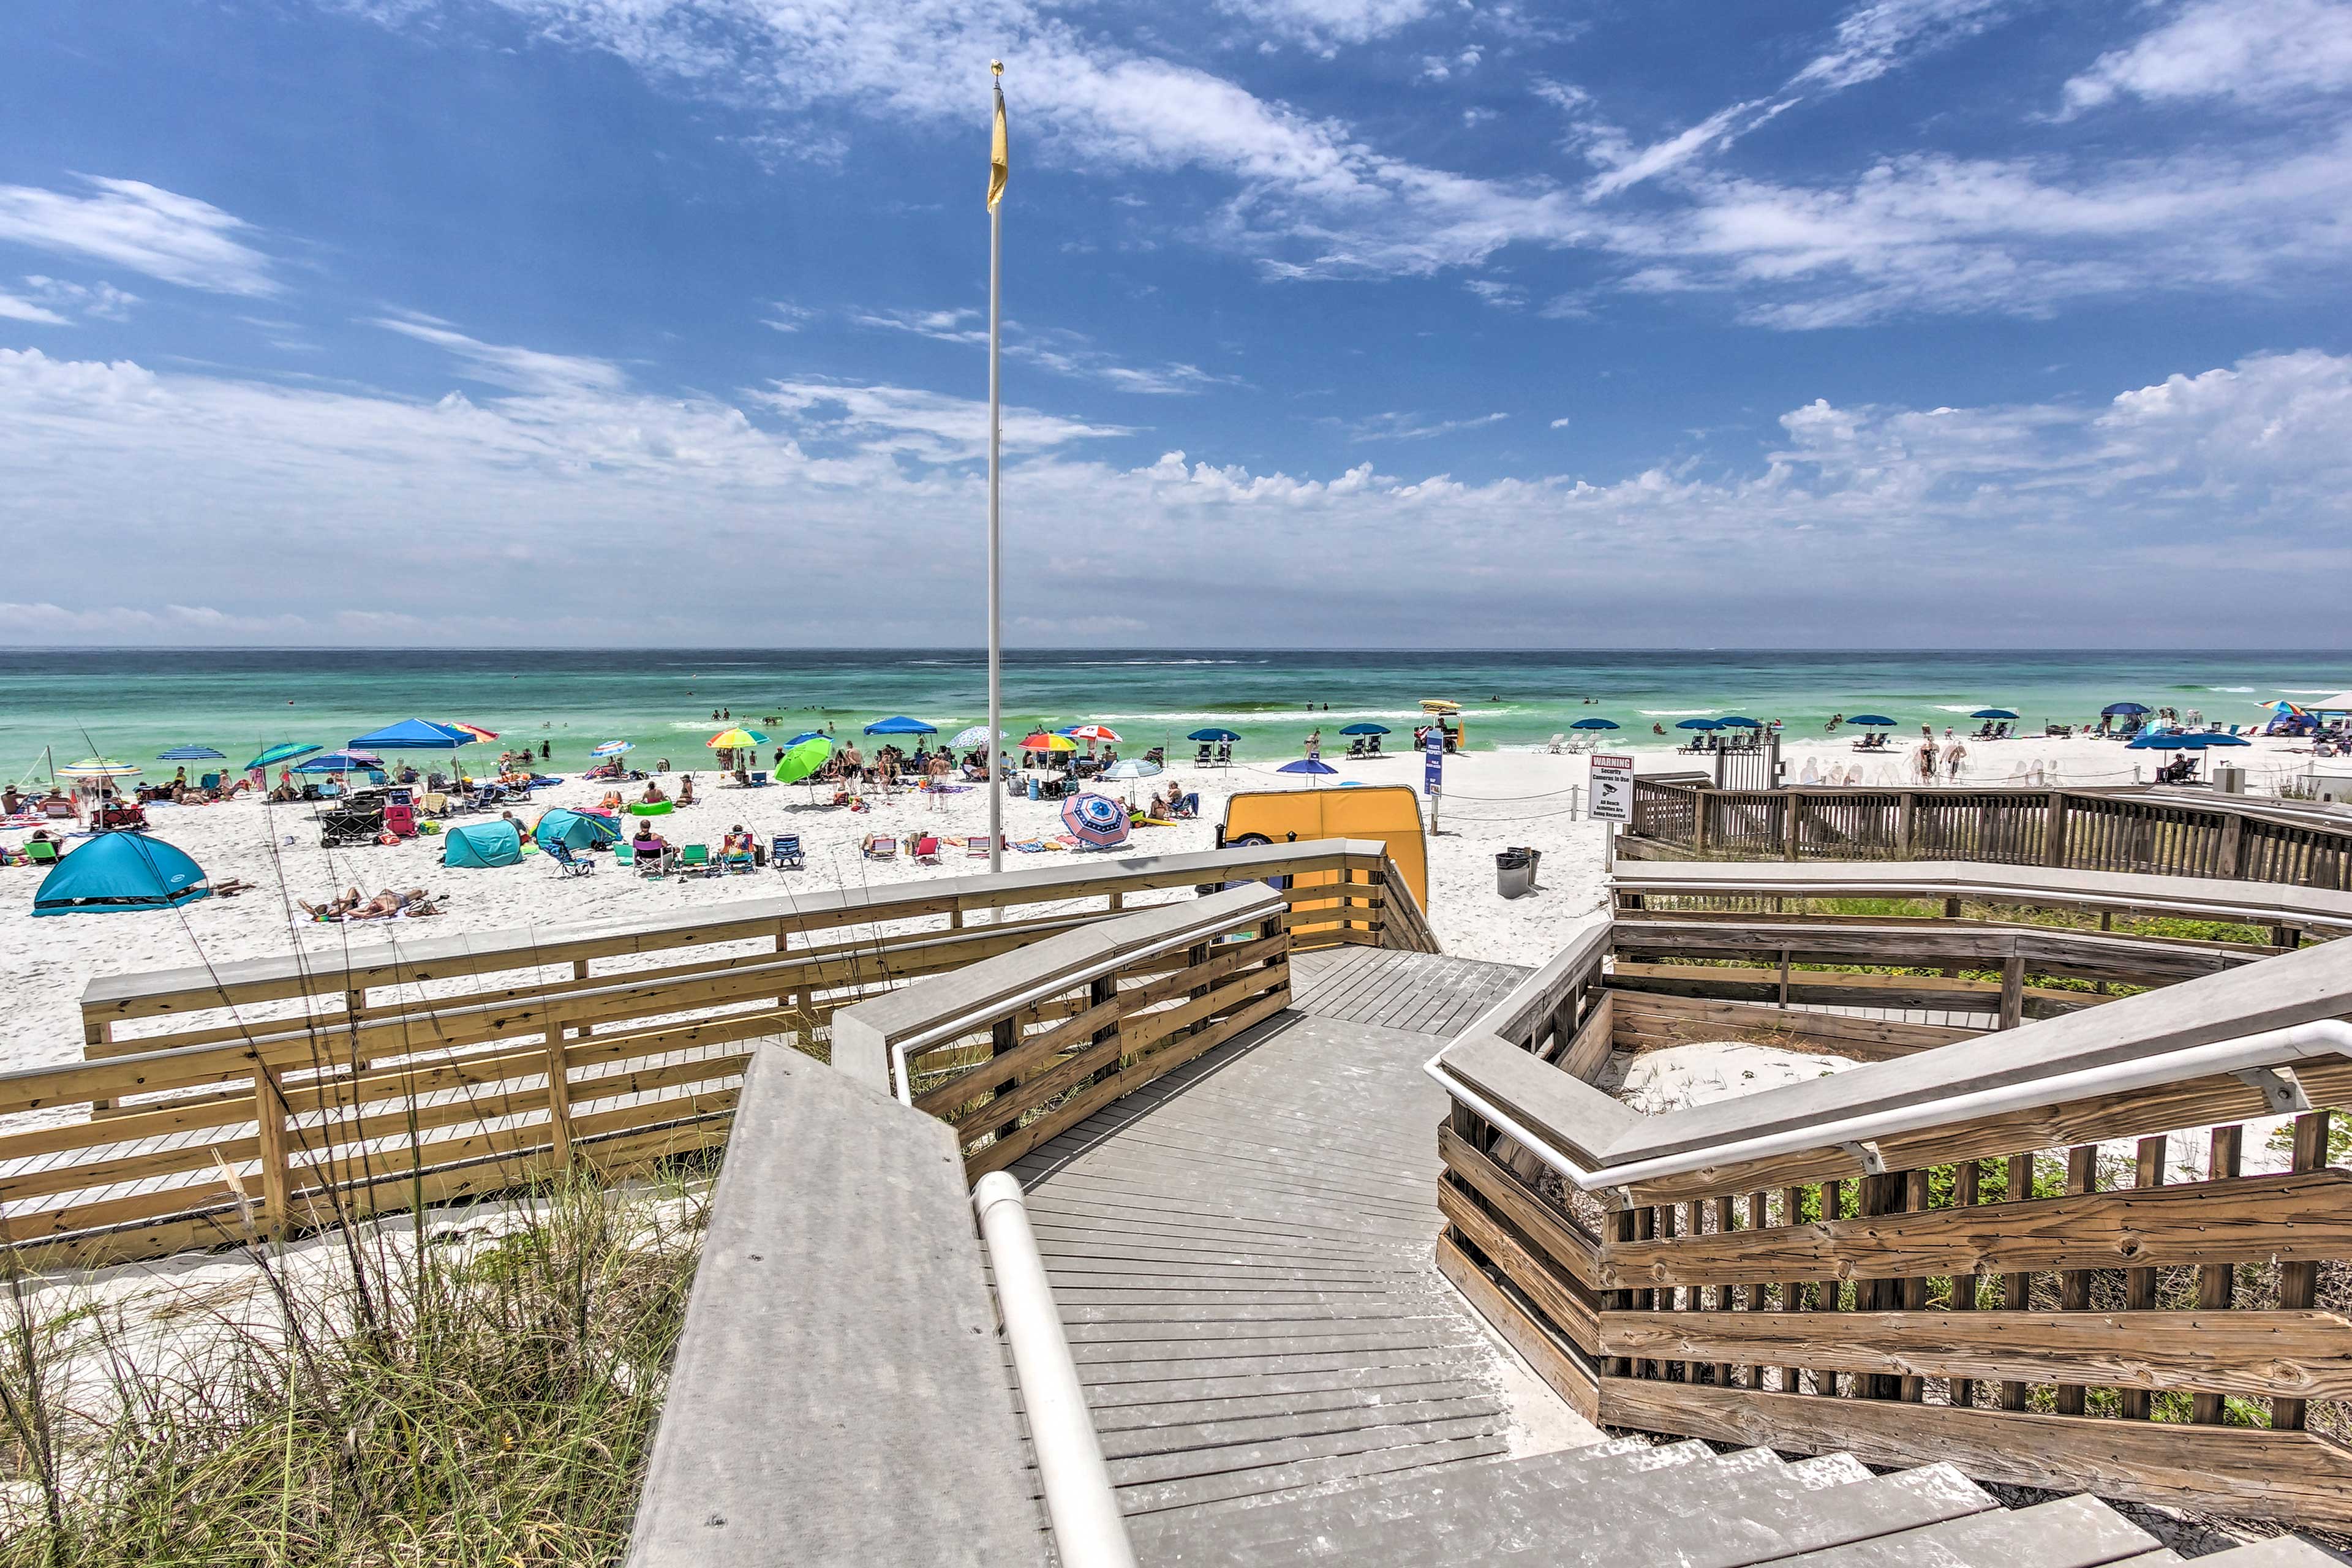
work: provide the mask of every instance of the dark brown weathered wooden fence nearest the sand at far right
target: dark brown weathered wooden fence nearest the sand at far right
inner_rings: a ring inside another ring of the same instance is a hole
[[[1997,860],[2352,889],[2352,827],[2288,806],[2084,790],[1719,790],[1637,778],[1628,849],[1717,860]]]

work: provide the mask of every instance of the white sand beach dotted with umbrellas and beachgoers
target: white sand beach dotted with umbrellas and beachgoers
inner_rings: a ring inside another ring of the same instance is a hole
[[[1940,733],[1938,733],[1940,741]],[[2260,780],[2300,771],[2305,757],[2288,741],[2258,741],[2230,752]],[[1670,750],[1635,750],[1644,773],[1686,771],[1705,764]],[[1867,757],[1851,750],[1851,736],[1788,736],[1783,759],[1790,778],[1811,762],[1867,769],[1867,783],[1907,778],[1900,757]],[[1971,743],[1962,783],[2004,783],[2016,766],[2039,762],[2044,776],[2056,771],[2063,783],[2129,783],[2138,764],[2152,771],[2154,755],[2126,752],[2114,741],[2004,741]],[[1324,788],[1341,780],[1421,785],[1421,759],[1411,752],[1374,762],[1334,757],[1341,769]],[[1430,919],[1449,952],[1508,964],[1541,964],[1559,945],[1562,933],[1581,912],[1599,907],[1604,872],[1599,823],[1583,818],[1588,759],[1545,750],[1472,750],[1446,759],[1446,795],[1439,832],[1430,839]],[[713,785],[717,773],[699,773],[696,785]],[[1162,778],[1134,785],[1136,799],[1169,780],[1197,790],[1200,820],[1174,827],[1138,827],[1120,853],[1178,853],[1209,849],[1225,799],[1237,790],[1312,788],[1296,773],[1277,773],[1268,764],[1240,764],[1230,771],[1195,771],[1176,766]],[[593,804],[607,785],[564,780],[539,790],[539,806]],[[1127,785],[1105,785],[1124,797]],[[743,823],[762,842],[776,832],[797,832],[807,846],[804,872],[769,872],[722,879],[644,882],[604,867],[593,877],[557,877],[543,856],[499,870],[445,870],[437,837],[419,837],[397,846],[320,849],[315,806],[240,799],[219,806],[151,806],[153,832],[186,849],[214,879],[242,877],[259,884],[238,898],[207,898],[169,914],[75,914],[31,919],[38,867],[0,870],[0,1070],[56,1065],[80,1058],[82,1032],[78,999],[82,985],[99,973],[141,969],[181,969],[252,959],[296,947],[334,952],[383,940],[381,926],[308,924],[294,900],[325,900],[358,886],[423,886],[447,893],[447,914],[433,922],[435,933],[520,931],[567,926],[579,922],[628,919],[640,912],[673,912],[682,903],[717,905],[729,898],[774,896],[779,889],[840,889],[922,877],[955,877],[974,870],[957,844],[941,865],[917,865],[910,856],[866,860],[858,842],[868,832],[894,832],[901,839],[936,832],[943,839],[985,835],[988,795],[978,788],[962,795],[929,797],[898,792],[875,797],[870,811],[814,806],[802,788],[710,790],[708,799],[666,818],[673,842],[717,844],[727,830]],[[1058,804],[1007,799],[1007,837],[1051,837],[1061,832]],[[21,844],[24,832],[5,842]],[[1496,896],[1494,856],[1508,846],[1543,851],[1536,891],[1526,898]],[[1051,851],[1014,856],[1016,865],[1049,858],[1080,860],[1087,851]]]

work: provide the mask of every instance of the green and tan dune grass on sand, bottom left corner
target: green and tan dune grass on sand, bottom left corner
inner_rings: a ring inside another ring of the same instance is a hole
[[[9,1281],[0,1568],[621,1561],[706,1178],[256,1244],[233,1305]]]

